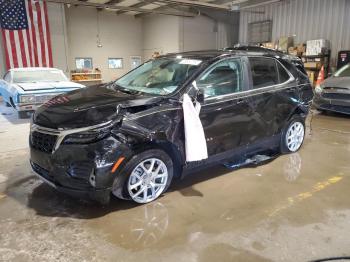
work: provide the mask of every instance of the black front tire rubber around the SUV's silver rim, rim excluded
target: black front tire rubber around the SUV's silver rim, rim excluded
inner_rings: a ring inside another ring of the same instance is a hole
[[[162,195],[169,188],[171,184],[171,181],[173,178],[173,172],[174,172],[174,165],[169,155],[165,153],[163,150],[159,150],[159,149],[146,150],[146,151],[143,151],[142,153],[139,153],[133,156],[126,163],[126,165],[121,170],[121,172],[116,176],[112,186],[112,194],[121,199],[133,200],[133,198],[130,196],[130,193],[128,191],[128,183],[129,183],[130,175],[140,163],[142,163],[147,159],[152,159],[152,158],[161,160],[167,168],[168,176],[167,176],[166,185],[155,199],[157,199],[160,195]]]

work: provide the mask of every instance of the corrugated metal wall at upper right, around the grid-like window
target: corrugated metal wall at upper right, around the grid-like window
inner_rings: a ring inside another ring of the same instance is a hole
[[[272,40],[291,35],[295,43],[328,39],[333,58],[339,50],[350,50],[350,0],[286,0],[244,10],[239,42],[247,43],[248,23],[264,20],[272,20]]]

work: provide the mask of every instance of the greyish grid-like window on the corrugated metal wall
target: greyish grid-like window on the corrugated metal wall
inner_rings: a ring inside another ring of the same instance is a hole
[[[259,44],[271,42],[272,21],[254,22],[248,24],[248,42],[250,44]]]

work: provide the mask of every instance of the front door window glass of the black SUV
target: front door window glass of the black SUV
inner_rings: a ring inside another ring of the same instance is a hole
[[[240,60],[227,59],[205,71],[197,79],[197,86],[205,97],[227,95],[242,91],[242,79]]]

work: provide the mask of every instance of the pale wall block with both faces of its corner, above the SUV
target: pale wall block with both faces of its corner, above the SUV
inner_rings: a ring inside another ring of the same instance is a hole
[[[152,15],[143,18],[142,25],[145,59],[149,59],[155,51],[166,54],[228,45],[225,24],[206,16],[184,18]]]

